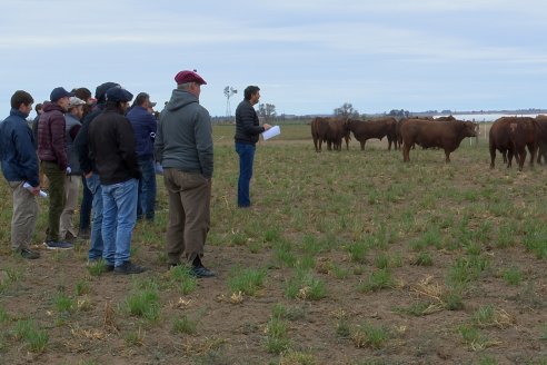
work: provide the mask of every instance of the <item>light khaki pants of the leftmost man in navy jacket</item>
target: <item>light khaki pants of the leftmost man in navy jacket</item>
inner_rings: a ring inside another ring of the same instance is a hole
[[[38,220],[38,203],[36,197],[22,187],[23,181],[10,181],[9,184],[13,190],[11,249],[30,248]]]

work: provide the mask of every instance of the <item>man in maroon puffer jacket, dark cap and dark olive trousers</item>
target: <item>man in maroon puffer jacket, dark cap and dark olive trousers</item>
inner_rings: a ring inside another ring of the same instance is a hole
[[[64,112],[73,95],[63,88],[54,88],[50,102],[43,106],[38,121],[38,157],[49,180],[49,215],[46,241],[48,249],[69,249],[72,244],[60,240],[59,225],[64,207],[64,176],[70,174],[64,149]]]

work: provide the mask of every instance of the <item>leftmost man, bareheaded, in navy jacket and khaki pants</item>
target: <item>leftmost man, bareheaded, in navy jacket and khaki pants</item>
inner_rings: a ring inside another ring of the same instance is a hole
[[[13,195],[11,249],[29,259],[40,257],[39,253],[30,249],[38,219],[34,196],[40,193],[34,137],[26,120],[33,102],[27,91],[16,91],[11,97],[10,116],[0,124],[2,172]],[[24,187],[24,182],[28,187]]]

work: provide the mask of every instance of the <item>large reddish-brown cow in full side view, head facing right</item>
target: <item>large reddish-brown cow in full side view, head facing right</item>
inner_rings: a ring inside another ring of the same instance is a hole
[[[470,121],[430,121],[408,119],[400,128],[402,135],[402,160],[410,161],[410,147],[417,144],[424,148],[438,147],[445,150],[446,162],[450,154],[459,147],[466,137],[476,137],[477,128]]]

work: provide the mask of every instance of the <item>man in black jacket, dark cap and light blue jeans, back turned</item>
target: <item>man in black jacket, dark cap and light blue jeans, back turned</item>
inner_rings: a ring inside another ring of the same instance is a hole
[[[123,117],[132,98],[120,86],[108,89],[105,111],[91,121],[88,132],[89,156],[99,172],[102,190],[102,257],[115,274],[146,270],[130,260],[140,178],[133,130]]]

